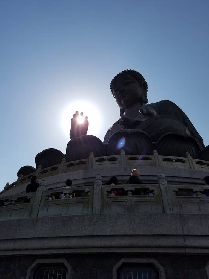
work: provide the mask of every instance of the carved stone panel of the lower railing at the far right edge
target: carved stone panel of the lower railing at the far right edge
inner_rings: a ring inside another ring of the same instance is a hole
[[[172,188],[174,213],[209,213],[209,186],[178,185]]]

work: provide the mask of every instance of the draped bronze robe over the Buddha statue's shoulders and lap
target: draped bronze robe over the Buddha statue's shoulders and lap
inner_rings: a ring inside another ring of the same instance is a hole
[[[153,141],[157,141],[160,136],[167,132],[180,132],[192,135],[196,139],[200,150],[204,148],[203,139],[187,115],[176,104],[171,101],[162,100],[142,106],[144,109],[148,107],[155,109],[157,116],[152,116],[149,119],[142,121],[142,123],[137,125],[135,129],[144,130]],[[107,131],[104,139],[105,144],[114,132],[124,128],[122,125],[119,125],[119,120]]]

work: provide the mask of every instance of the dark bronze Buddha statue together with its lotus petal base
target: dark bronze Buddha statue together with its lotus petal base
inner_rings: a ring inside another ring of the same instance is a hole
[[[36,167],[42,169],[64,161],[76,161],[89,156],[104,157],[118,155],[123,149],[126,155],[159,155],[185,157],[209,161],[209,146],[187,117],[173,102],[162,100],[148,104],[148,85],[144,77],[135,70],[117,74],[110,83],[110,90],[120,109],[120,118],[108,129],[104,142],[87,135],[88,117],[79,123],[79,113],[71,119],[71,140],[64,155],[57,149],[46,149],[36,155]],[[156,152],[156,151],[155,151]],[[19,174],[34,172],[30,166],[22,167]]]

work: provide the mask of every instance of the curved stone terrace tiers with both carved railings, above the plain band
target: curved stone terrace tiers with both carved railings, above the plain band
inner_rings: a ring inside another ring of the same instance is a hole
[[[139,170],[143,184],[123,184],[131,170]],[[0,220],[25,219],[58,215],[106,213],[209,213],[209,161],[185,157],[120,155],[94,157],[66,162],[19,177],[6,185],[0,194]],[[32,175],[40,187],[26,193]],[[119,184],[105,185],[116,176]],[[67,179],[71,188],[63,188]],[[111,190],[121,195],[112,196]],[[64,199],[60,199],[60,195]],[[55,199],[50,197],[55,196]],[[73,196],[73,198],[71,198]]]

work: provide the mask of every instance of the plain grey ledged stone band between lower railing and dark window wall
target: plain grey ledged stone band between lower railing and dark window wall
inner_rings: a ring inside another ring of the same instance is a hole
[[[0,254],[186,253],[186,249],[205,254],[209,252],[209,228],[203,226],[206,221],[207,215],[203,214],[101,214],[10,220],[0,222]],[[196,224],[201,225],[201,230]]]

